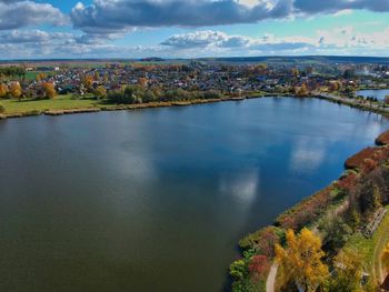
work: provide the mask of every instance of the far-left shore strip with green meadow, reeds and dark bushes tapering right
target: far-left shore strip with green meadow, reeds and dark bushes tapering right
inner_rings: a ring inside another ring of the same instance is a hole
[[[86,81],[88,84],[88,80]],[[42,113],[89,112],[88,110],[129,110],[138,108],[190,105],[226,100],[241,100],[245,98],[261,97],[263,92],[248,92],[247,94],[230,94],[217,90],[187,91],[182,89],[161,90],[147,89],[141,85],[127,85],[117,90],[107,91],[103,87],[90,88],[82,95],[58,94],[52,83],[42,82],[38,97],[28,92],[21,93],[18,83],[0,87],[0,102],[3,118],[36,115]],[[87,85],[88,87],[88,85]],[[2,92],[2,93],[1,93]],[[84,111],[83,111],[84,110]]]

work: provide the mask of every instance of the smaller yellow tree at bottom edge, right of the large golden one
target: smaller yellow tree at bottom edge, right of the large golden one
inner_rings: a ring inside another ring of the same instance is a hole
[[[362,258],[355,250],[342,250],[333,261],[335,275],[330,279],[330,292],[361,292]]]

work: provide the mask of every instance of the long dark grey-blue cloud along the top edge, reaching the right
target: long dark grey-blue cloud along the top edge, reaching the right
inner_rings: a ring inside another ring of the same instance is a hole
[[[73,26],[87,33],[126,32],[137,27],[210,27],[256,23],[352,10],[389,11],[388,0],[93,0],[79,2]]]

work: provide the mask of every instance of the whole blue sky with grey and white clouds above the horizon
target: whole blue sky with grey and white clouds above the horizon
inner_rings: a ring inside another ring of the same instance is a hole
[[[0,0],[0,59],[389,57],[389,0]]]

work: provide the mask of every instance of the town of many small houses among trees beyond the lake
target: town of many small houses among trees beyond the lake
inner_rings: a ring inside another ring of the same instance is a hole
[[[29,68],[33,71],[33,68]],[[46,69],[49,70],[49,69]],[[379,64],[248,64],[191,61],[186,63],[110,63],[96,67],[54,67],[43,80],[23,84],[30,97],[41,94],[41,83],[51,82],[59,93],[84,94],[104,87],[123,85],[221,92],[290,92],[293,88],[333,90],[342,87],[389,87],[389,67]],[[86,83],[88,80],[89,83]]]

